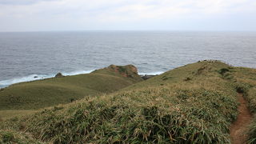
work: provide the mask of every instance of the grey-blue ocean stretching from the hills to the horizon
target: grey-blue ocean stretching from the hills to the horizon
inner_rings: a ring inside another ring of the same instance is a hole
[[[256,68],[256,32],[70,31],[0,33],[0,87],[132,64],[162,74],[217,59]]]

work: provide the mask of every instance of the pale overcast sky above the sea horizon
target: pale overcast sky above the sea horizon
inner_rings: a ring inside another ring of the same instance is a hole
[[[256,30],[256,0],[0,0],[0,31]]]

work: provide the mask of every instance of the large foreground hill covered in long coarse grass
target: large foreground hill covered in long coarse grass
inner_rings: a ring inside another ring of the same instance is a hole
[[[0,124],[0,135],[54,143],[230,143],[237,92],[255,109],[254,78],[254,69],[196,62],[111,94],[12,118]]]

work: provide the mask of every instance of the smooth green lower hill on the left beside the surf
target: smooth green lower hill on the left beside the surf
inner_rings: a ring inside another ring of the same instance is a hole
[[[130,66],[122,67],[129,72]],[[108,94],[142,81],[136,72],[133,78],[126,78],[121,73],[105,68],[91,74],[14,84],[0,91],[0,110],[34,110],[86,96]]]

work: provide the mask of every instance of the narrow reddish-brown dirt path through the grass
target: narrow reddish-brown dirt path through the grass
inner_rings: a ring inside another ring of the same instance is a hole
[[[252,115],[246,106],[246,100],[243,98],[242,94],[238,94],[238,102],[240,102],[238,118],[230,127],[232,144],[246,143],[246,134],[244,131],[246,130],[246,126],[252,121]]]

